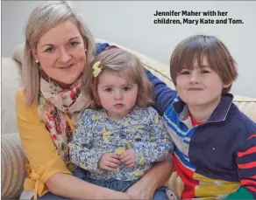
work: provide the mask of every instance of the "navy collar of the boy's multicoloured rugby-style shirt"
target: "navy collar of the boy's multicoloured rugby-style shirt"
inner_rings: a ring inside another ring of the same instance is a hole
[[[210,119],[206,122],[224,121],[230,110],[233,98],[234,96],[231,93],[223,94],[220,103],[210,115]],[[180,121],[185,120],[189,114],[188,105],[178,95],[174,100],[174,111],[179,116]]]

